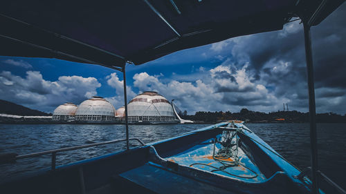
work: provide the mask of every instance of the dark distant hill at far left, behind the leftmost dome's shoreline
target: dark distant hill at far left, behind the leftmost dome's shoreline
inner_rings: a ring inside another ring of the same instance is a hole
[[[39,110],[33,110],[10,101],[0,99],[0,113],[8,115],[21,116],[50,116],[52,114],[44,113]]]

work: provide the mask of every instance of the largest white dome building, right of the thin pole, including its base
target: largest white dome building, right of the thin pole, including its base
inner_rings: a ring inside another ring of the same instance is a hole
[[[165,97],[147,91],[137,95],[127,105],[129,122],[176,122],[172,105]]]

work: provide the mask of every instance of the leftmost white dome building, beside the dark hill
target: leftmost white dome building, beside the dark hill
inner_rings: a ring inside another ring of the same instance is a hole
[[[53,121],[69,121],[75,119],[75,110],[77,110],[77,105],[66,102],[60,106],[57,106],[53,112]]]

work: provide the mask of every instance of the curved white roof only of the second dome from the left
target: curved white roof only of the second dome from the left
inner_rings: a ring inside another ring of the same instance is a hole
[[[92,97],[83,101],[75,111],[75,115],[107,115],[115,116],[113,105],[102,97]]]

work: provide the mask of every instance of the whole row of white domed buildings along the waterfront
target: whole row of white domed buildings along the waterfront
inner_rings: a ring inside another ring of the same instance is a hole
[[[127,106],[130,124],[176,124],[191,123],[181,119],[173,104],[162,95],[147,91],[131,99]],[[65,103],[54,110],[53,121],[73,123],[124,123],[125,106],[116,110],[102,97],[91,97],[79,106]]]

